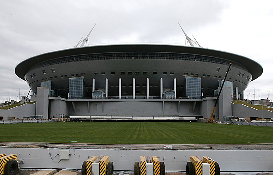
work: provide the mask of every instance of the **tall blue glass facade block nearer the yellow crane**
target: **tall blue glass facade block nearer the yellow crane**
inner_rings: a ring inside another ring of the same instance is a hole
[[[198,99],[202,97],[201,93],[201,78],[187,77],[186,78],[186,96],[188,98]]]

